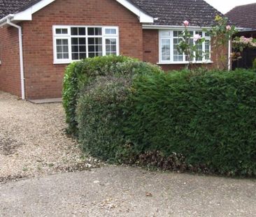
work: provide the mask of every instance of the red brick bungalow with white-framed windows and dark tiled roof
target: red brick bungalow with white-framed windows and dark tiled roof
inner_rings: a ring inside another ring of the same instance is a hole
[[[58,98],[67,64],[108,54],[183,68],[176,48],[183,21],[206,41],[218,10],[203,0],[0,0],[0,90],[27,99]]]

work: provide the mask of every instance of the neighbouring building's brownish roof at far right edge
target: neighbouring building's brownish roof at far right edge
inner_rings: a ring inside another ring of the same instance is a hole
[[[256,3],[236,6],[226,16],[236,27],[256,29]]]

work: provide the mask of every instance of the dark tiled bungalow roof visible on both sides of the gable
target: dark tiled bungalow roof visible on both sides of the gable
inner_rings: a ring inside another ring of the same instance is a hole
[[[0,19],[20,12],[40,0],[0,0]],[[210,27],[215,15],[222,15],[204,0],[128,0],[143,12],[158,18],[154,25],[182,26],[188,20],[194,27]]]

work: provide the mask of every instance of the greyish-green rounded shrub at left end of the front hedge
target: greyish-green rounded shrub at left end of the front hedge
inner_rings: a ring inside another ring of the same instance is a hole
[[[79,140],[92,156],[115,161],[125,150],[122,105],[131,79],[99,77],[87,87],[78,101]]]

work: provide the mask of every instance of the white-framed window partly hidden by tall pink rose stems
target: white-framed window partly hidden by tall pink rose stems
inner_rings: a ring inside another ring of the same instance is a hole
[[[187,63],[185,54],[178,51],[180,35],[183,31],[161,30],[159,31],[159,63]],[[211,61],[211,37],[203,31],[190,31],[190,45],[194,45],[194,35],[199,34],[206,38],[205,42],[197,45],[194,62]],[[203,57],[200,57],[203,56]]]

